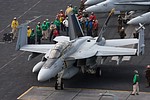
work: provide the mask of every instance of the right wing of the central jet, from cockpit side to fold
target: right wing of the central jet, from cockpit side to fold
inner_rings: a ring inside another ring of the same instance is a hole
[[[119,39],[118,39],[119,41]],[[123,48],[123,47],[113,47],[112,45],[116,45],[119,46],[117,44],[118,41],[114,41],[114,43],[116,42],[116,44],[112,44],[112,43],[107,43],[107,45],[111,45],[111,46],[100,46],[97,44],[94,44],[92,41],[91,43],[85,44],[83,46],[81,46],[80,49],[76,50],[75,53],[73,53],[72,55],[70,55],[68,57],[68,59],[71,60],[72,59],[84,59],[84,58],[89,58],[92,56],[130,56],[130,55],[136,55],[137,53],[137,49],[132,49],[132,48]],[[136,41],[135,41],[136,42]],[[128,45],[131,43],[120,43],[120,45]]]

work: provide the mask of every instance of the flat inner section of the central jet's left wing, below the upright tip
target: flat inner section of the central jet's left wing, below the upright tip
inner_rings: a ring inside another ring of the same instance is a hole
[[[25,45],[20,48],[22,51],[44,53],[48,52],[50,49],[54,48],[55,44],[41,44],[41,45]]]

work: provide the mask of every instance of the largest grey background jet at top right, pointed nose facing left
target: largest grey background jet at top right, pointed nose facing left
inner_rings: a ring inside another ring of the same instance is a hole
[[[150,2],[146,0],[106,0],[101,3],[90,6],[84,10],[84,12],[109,12],[115,8],[116,12],[119,11],[131,11],[131,10],[148,10]]]

